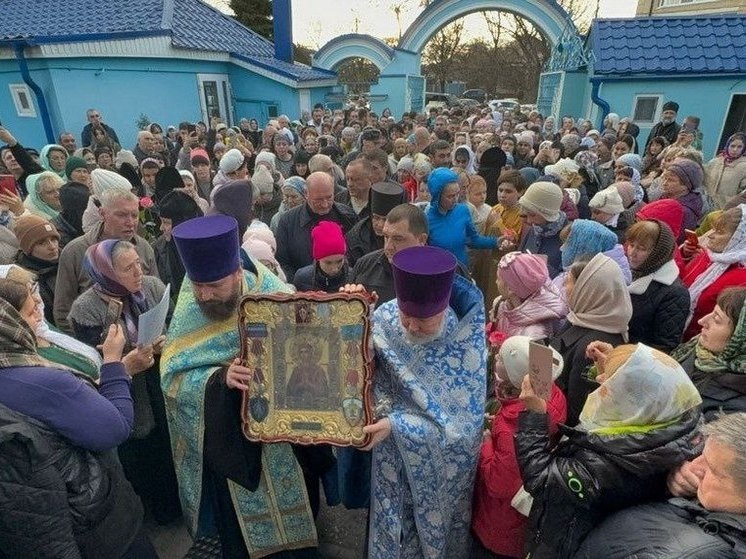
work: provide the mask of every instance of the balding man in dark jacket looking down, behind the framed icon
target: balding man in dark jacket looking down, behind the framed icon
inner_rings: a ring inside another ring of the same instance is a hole
[[[311,254],[311,229],[319,221],[339,223],[346,233],[355,225],[355,212],[334,201],[334,179],[317,171],[306,179],[306,203],[282,215],[277,222],[277,261],[289,278],[303,266],[313,262]]]

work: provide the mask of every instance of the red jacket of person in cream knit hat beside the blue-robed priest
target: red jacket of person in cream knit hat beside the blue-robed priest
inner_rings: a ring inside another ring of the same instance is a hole
[[[523,485],[515,456],[513,437],[518,431],[518,414],[525,406],[518,398],[503,400],[492,424],[492,436],[482,443],[474,486],[474,514],[471,527],[487,549],[499,555],[522,557],[528,518],[510,502]],[[549,430],[567,418],[567,401],[557,385],[547,402]]]

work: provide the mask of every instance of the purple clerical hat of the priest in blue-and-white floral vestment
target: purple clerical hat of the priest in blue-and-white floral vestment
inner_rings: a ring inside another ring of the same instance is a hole
[[[448,307],[456,257],[431,246],[400,250],[391,261],[399,310],[415,318],[430,318]]]

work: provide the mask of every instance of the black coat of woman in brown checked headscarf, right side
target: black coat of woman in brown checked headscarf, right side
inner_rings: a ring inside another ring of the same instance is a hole
[[[681,343],[689,316],[689,290],[677,279],[671,285],[653,281],[645,293],[630,293],[629,341],[670,353]]]

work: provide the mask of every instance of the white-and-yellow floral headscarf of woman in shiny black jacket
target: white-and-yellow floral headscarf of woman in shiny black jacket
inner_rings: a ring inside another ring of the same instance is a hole
[[[608,435],[644,433],[674,423],[701,403],[681,365],[637,344],[616,372],[588,395],[579,428]]]

